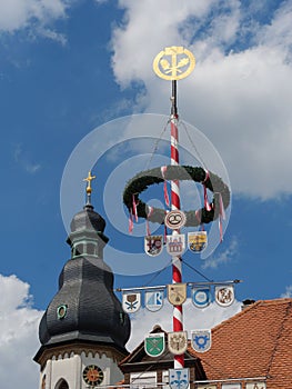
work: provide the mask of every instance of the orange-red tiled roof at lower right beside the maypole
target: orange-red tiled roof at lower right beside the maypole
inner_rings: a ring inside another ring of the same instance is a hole
[[[269,389],[291,389],[292,299],[244,308],[212,329],[209,351],[190,352],[200,357],[209,380],[266,377]]]

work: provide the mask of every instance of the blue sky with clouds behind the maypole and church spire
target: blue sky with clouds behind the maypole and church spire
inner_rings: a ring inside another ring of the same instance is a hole
[[[115,256],[118,263],[124,253],[133,253],[133,260],[142,255],[144,225],[129,237],[121,196],[127,180],[150,159],[170,112],[170,83],[152,71],[153,58],[168,46],[183,46],[195,56],[193,73],[179,82],[180,119],[210,170],[225,169],[232,190],[223,242],[208,258],[187,253],[185,261],[209,279],[243,280],[239,301],[291,297],[291,22],[292,1],[1,2],[0,275],[7,296],[1,309],[8,312],[1,322],[10,333],[3,336],[1,360],[9,342],[32,345],[37,337],[36,320],[70,256],[67,221],[83,206],[81,179],[88,168],[98,177],[92,202],[108,222],[105,261],[115,271]],[[140,120],[134,128],[133,113]],[[94,163],[89,151],[99,156]],[[75,154],[74,174],[70,156]],[[167,163],[168,156],[161,143],[152,166]],[[190,164],[197,166],[195,157],[194,150],[181,152]],[[73,190],[62,197],[66,177]],[[193,200],[192,190],[183,190],[188,209],[201,196]],[[117,287],[153,277],[115,273]],[[189,267],[183,278],[203,280]],[[170,279],[168,268],[153,282]],[[31,322],[21,336],[9,326],[19,306]],[[1,381],[4,375],[0,369]]]

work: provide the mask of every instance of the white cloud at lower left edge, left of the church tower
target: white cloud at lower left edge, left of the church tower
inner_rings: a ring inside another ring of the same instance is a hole
[[[42,312],[31,307],[29,285],[16,276],[0,275],[0,382],[7,389],[38,388],[39,367],[32,361],[39,349],[38,325]],[[17,373],[11,373],[11,367]],[[21,377],[21,380],[20,380]]]

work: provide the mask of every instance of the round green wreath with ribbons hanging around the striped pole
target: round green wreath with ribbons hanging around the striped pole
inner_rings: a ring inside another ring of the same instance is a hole
[[[123,203],[129,212],[132,212],[133,197],[137,205],[137,215],[140,218],[150,220],[151,222],[164,223],[165,210],[160,208],[152,208],[144,203],[140,198],[148,187],[153,183],[161,183],[165,180],[192,180],[203,183],[209,190],[213,192],[211,202],[211,210],[205,208],[199,210],[191,210],[184,212],[187,216],[185,227],[195,227],[201,223],[209,223],[215,220],[220,215],[220,196],[222,198],[224,209],[230,203],[230,190],[220,177],[212,172],[207,172],[203,168],[191,166],[168,166],[162,177],[161,168],[154,168],[142,171],[134,176],[125,186],[123,191]]]

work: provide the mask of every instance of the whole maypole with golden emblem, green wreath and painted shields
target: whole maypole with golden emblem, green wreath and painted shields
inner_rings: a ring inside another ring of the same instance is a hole
[[[214,287],[215,301],[228,307],[234,301],[233,285],[240,282],[183,282],[182,255],[185,250],[185,235],[182,227],[200,227],[217,219],[223,219],[224,209],[230,203],[230,190],[220,177],[207,171],[202,167],[180,166],[179,159],[179,114],[177,107],[177,82],[189,76],[194,69],[193,54],[183,47],[169,47],[161,51],[153,61],[154,72],[162,79],[171,81],[171,114],[170,114],[170,164],[153,168],[138,173],[125,186],[123,202],[129,210],[129,231],[132,230],[133,220],[147,219],[147,236],[144,237],[144,251],[150,257],[159,256],[165,246],[171,256],[172,283],[157,287],[138,287],[117,289],[122,292],[122,306],[127,313],[134,313],[141,307],[141,292],[144,291],[144,306],[150,311],[158,311],[163,306],[164,290],[168,300],[173,306],[173,331],[168,332],[168,349],[173,355],[174,369],[169,369],[169,385],[171,389],[188,389],[190,375],[184,367],[184,352],[188,349],[188,332],[183,330],[183,303],[187,299],[188,287],[192,289],[192,302],[198,308],[208,307],[211,301],[211,287]],[[183,212],[181,210],[180,181],[188,180],[201,183],[204,189],[204,207]],[[171,205],[168,197],[167,181],[171,183]],[[150,186],[164,183],[164,200],[169,208],[159,209],[150,207],[142,201],[140,194]],[[207,190],[213,192],[213,200],[209,202]],[[148,222],[164,225],[172,230],[167,235],[163,245],[162,235],[151,235]],[[222,227],[222,226],[221,226]],[[188,232],[188,249],[200,253],[208,243],[207,231]],[[164,352],[164,332],[154,329],[145,336],[144,351],[148,356],[158,358]],[[191,345],[197,352],[205,352],[211,348],[211,330],[192,330]]]

